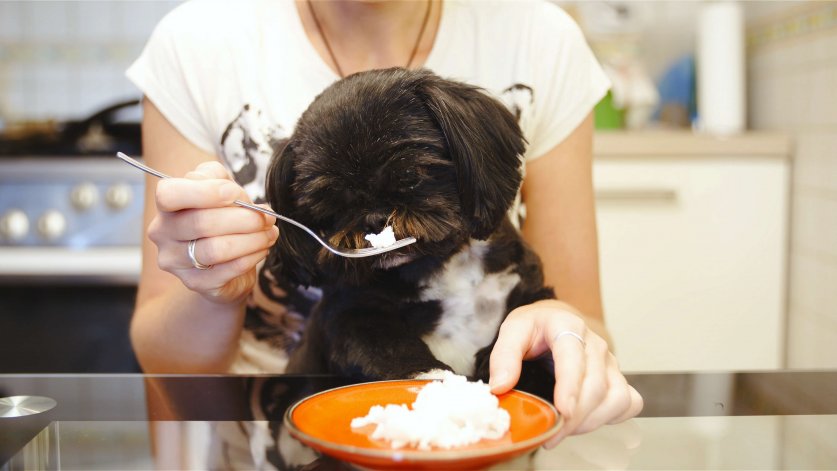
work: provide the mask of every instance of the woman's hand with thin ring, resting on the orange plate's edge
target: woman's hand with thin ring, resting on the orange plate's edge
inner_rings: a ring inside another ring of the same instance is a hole
[[[642,410],[642,397],[625,381],[607,342],[575,309],[555,300],[521,306],[500,326],[490,360],[492,392],[514,387],[521,362],[547,351],[555,361],[553,400],[564,420],[548,448],[568,435],[622,422]]]

